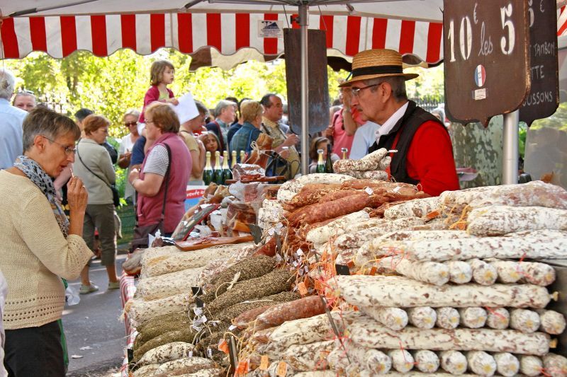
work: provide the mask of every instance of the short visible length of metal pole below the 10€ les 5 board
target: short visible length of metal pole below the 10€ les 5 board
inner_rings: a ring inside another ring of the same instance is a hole
[[[518,182],[518,110],[504,115],[504,153],[502,158],[502,183],[511,185]]]

